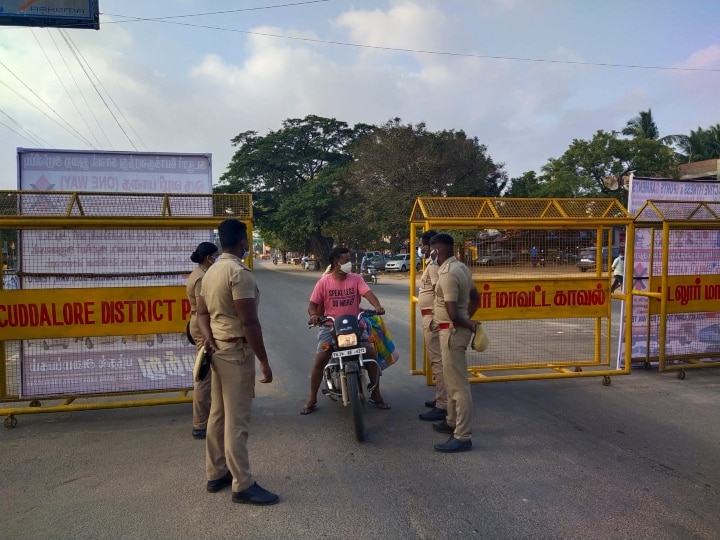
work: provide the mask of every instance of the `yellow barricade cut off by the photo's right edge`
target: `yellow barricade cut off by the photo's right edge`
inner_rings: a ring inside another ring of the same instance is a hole
[[[720,366],[720,203],[647,201],[634,218],[646,257],[633,276],[632,359],[659,371]]]

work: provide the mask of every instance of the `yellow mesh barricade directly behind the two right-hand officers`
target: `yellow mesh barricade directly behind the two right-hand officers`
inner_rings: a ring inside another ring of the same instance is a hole
[[[410,250],[423,231],[451,234],[455,256],[473,272],[480,296],[474,318],[490,336],[468,349],[471,382],[627,374],[614,364],[619,317],[610,293],[612,259],[632,216],[617,199],[421,197],[410,218]],[[627,235],[627,237],[626,237]],[[624,249],[625,246],[623,245]],[[411,373],[432,384],[427,355],[418,366],[417,281],[410,270]],[[617,310],[619,303],[616,303]],[[629,351],[629,340],[623,344]],[[424,351],[424,347],[420,350]]]

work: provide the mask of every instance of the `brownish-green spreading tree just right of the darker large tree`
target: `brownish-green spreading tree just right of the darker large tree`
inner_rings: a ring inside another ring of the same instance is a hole
[[[382,239],[396,249],[408,239],[418,197],[499,196],[507,182],[502,165],[463,131],[429,132],[424,123],[394,118],[353,146],[348,170],[355,206],[355,235],[361,244]]]

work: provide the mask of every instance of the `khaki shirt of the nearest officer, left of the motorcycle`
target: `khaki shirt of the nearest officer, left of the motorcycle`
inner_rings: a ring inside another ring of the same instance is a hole
[[[260,291],[255,276],[239,257],[223,253],[205,272],[200,296],[210,313],[210,329],[218,340],[245,337],[235,300],[254,298],[260,303]]]

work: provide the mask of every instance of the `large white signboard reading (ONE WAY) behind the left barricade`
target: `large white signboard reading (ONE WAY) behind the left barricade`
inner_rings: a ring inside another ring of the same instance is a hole
[[[71,208],[71,215],[160,217],[166,195],[212,193],[211,156],[21,148],[18,187],[85,194],[81,209],[70,194],[30,193],[21,198],[21,215],[65,215]],[[174,216],[211,216],[212,200],[177,197],[171,208]],[[204,241],[213,241],[212,231],[24,230],[20,287],[184,286],[194,266],[190,254]],[[21,392],[32,397],[190,387],[194,357],[184,334],[29,340],[21,350]]]

